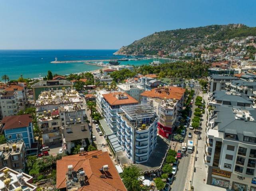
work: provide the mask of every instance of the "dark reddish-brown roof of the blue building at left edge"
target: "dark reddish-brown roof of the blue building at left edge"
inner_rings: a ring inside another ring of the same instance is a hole
[[[14,115],[7,116],[2,119],[1,123],[4,124],[3,129],[15,129],[20,127],[28,127],[29,123],[32,122],[31,115]]]

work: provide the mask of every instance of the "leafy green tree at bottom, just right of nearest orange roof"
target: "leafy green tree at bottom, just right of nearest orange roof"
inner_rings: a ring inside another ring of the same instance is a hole
[[[139,176],[139,168],[136,166],[129,166],[123,169],[121,178],[127,191],[141,191],[141,183],[138,180]]]

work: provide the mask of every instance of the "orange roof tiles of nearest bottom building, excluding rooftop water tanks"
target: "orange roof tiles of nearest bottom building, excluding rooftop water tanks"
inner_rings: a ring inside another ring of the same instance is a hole
[[[57,160],[56,188],[58,189],[66,187],[65,173],[68,165],[73,165],[74,171],[82,168],[87,175],[88,179],[85,185],[78,189],[79,191],[126,191],[108,152],[95,150],[87,152],[86,155],[64,156],[61,160]],[[103,165],[108,165],[106,173],[99,170]],[[103,174],[106,175],[105,178],[100,177]]]

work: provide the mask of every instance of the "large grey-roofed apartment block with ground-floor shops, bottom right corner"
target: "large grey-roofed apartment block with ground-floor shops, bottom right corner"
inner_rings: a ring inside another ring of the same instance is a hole
[[[256,112],[218,105],[208,111],[204,164],[207,184],[232,190],[256,189]]]

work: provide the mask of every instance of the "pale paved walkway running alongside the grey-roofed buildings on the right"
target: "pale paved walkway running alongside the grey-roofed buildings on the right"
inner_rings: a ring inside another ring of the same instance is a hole
[[[200,96],[203,96],[203,99],[205,101],[205,105],[207,105],[208,97],[207,94],[200,94]],[[198,146],[197,151],[198,154],[196,154],[196,162],[194,167],[196,168],[196,172],[192,175],[192,185],[194,187],[194,191],[202,191],[202,190],[214,190],[214,191],[225,191],[226,189],[208,185],[206,184],[206,176],[207,176],[207,166],[204,165],[204,145],[205,145],[205,139],[206,139],[206,115],[207,115],[207,108],[205,109],[205,113],[203,114],[203,121],[202,121],[202,131],[201,131],[201,140],[198,140]]]

